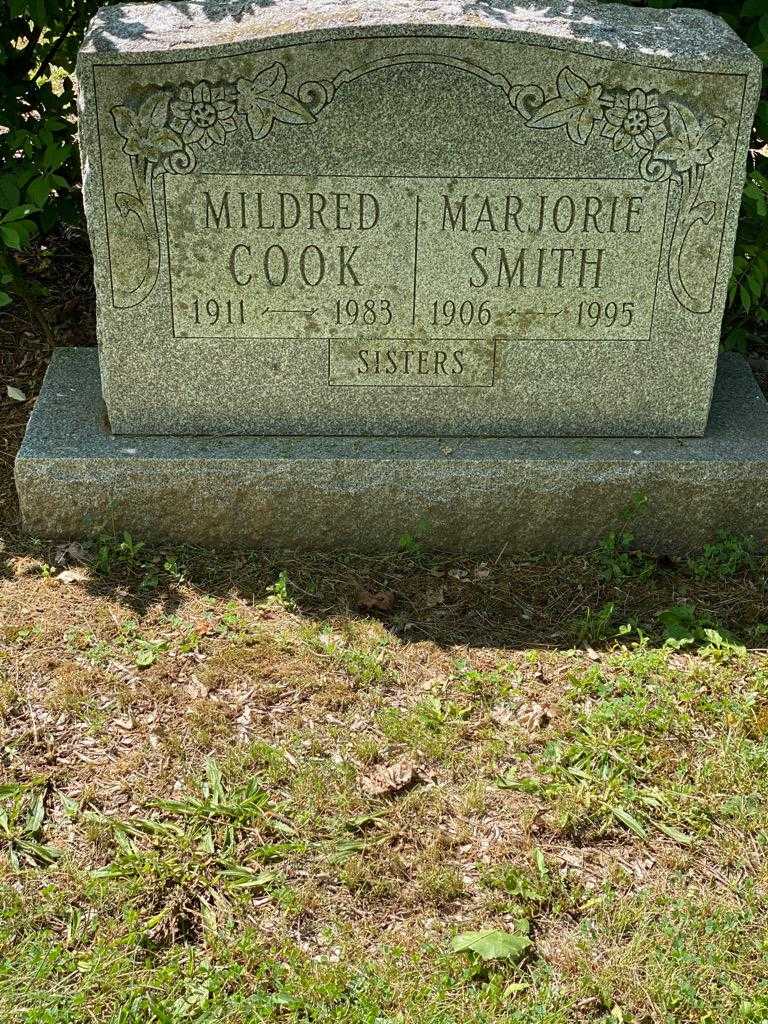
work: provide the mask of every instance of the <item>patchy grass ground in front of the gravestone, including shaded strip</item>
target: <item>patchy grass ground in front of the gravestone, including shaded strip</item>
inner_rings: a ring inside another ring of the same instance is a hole
[[[0,1020],[768,1022],[767,570],[8,531]]]

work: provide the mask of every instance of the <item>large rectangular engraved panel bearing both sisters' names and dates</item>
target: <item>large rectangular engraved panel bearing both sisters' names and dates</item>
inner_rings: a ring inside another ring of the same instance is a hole
[[[650,336],[669,181],[190,174],[164,189],[176,338]]]

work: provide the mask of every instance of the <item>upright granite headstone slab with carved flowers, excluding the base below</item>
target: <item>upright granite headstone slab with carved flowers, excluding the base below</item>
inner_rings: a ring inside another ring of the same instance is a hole
[[[760,71],[695,10],[104,8],[113,429],[700,434]]]

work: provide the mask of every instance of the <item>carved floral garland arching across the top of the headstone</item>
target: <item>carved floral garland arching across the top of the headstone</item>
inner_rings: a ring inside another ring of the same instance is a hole
[[[115,129],[123,139],[135,187],[134,193],[117,193],[115,205],[124,218],[136,217],[146,246],[141,280],[131,289],[116,287],[115,305],[138,305],[158,280],[157,177],[189,173],[200,154],[224,145],[244,124],[254,141],[265,138],[275,122],[311,124],[340,86],[374,71],[414,63],[451,68],[479,78],[506,93],[527,128],[564,128],[578,145],[586,145],[596,137],[615,153],[639,158],[638,169],[644,180],[671,178],[677,182],[680,201],[670,246],[670,285],[685,309],[710,311],[712,295],[696,295],[695,283],[684,280],[682,263],[690,229],[697,222],[711,223],[715,216],[715,204],[699,201],[699,195],[706,167],[713,161],[713,151],[725,130],[722,118],[700,123],[690,108],[677,99],[640,88],[607,89],[567,67],[557,76],[555,94],[548,95],[539,85],[513,85],[504,75],[461,57],[425,53],[397,54],[345,69],[333,81],[303,82],[295,94],[288,90],[285,67],[274,62],[254,78],[165,86],[153,89],[136,105],[113,106]]]

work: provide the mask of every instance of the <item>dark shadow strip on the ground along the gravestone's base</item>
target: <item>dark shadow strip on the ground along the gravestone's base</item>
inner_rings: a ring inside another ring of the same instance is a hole
[[[724,538],[673,561],[610,545],[587,555],[478,561],[416,550],[384,555],[210,551],[123,535],[74,549],[86,557],[73,585],[132,614],[173,614],[190,594],[258,605],[270,596],[309,620],[377,617],[403,641],[506,648],[608,647],[708,629],[729,642],[768,646],[768,559]],[[70,553],[71,554],[71,553]],[[63,546],[13,532],[0,575],[60,572]],[[47,567],[46,567],[47,566]]]

